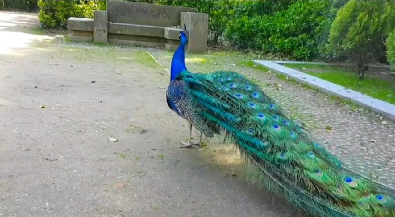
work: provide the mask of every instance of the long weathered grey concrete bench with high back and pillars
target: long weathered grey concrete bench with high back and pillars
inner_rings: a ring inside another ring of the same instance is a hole
[[[209,17],[188,7],[140,2],[107,1],[107,11],[94,11],[93,19],[70,17],[72,41],[120,43],[174,50],[179,32],[187,26],[186,51],[205,52]],[[180,28],[181,26],[181,28]]]

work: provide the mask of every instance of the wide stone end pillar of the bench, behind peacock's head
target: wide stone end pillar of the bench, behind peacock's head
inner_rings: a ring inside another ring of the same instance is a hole
[[[188,52],[206,52],[209,35],[209,15],[207,13],[181,12],[180,28],[186,24]]]

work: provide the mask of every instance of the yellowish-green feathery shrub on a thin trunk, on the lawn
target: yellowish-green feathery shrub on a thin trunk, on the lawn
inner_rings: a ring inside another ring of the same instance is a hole
[[[395,1],[348,1],[331,25],[327,52],[352,60],[363,79],[368,60],[385,57],[385,39],[395,25]]]

